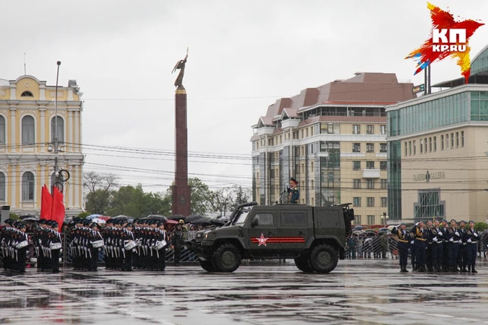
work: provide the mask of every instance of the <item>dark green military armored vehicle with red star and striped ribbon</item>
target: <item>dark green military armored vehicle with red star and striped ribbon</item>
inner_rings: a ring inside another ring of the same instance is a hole
[[[293,258],[303,272],[328,273],[344,259],[354,210],[349,204],[239,205],[224,226],[187,241],[208,272],[233,272],[242,258]]]

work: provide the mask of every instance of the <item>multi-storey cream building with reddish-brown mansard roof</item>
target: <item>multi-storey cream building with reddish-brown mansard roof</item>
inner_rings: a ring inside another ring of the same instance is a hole
[[[391,73],[356,73],[270,105],[253,125],[253,196],[283,201],[290,177],[300,204],[352,203],[356,224],[387,212],[387,105],[414,98]]]

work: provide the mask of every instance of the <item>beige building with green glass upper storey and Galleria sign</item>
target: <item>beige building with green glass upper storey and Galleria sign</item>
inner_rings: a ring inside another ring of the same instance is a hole
[[[390,220],[488,219],[488,47],[469,83],[388,106]]]

